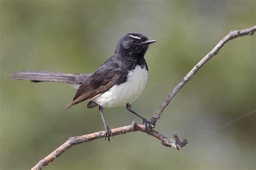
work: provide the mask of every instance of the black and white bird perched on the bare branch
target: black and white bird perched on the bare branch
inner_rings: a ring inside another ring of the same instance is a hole
[[[128,111],[143,120],[146,131],[150,133],[149,121],[132,111],[131,103],[140,96],[146,86],[149,73],[144,56],[149,44],[155,42],[156,40],[149,40],[140,33],[127,33],[124,35],[118,41],[113,56],[85,78],[78,87],[72,102],[65,110],[84,100],[89,101],[87,108],[98,106],[105,126],[105,139],[108,138],[110,140],[112,134],[109,127],[106,126],[103,108],[126,105]],[[35,77],[33,74],[31,76],[26,72],[13,74],[12,77],[30,79],[35,82],[44,81],[42,79],[44,76]],[[47,79],[46,81],[51,80]]]

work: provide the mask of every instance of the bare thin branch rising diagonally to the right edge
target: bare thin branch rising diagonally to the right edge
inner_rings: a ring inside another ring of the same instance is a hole
[[[187,73],[187,75],[180,81],[179,84],[177,84],[172,92],[169,94],[169,96],[165,99],[164,103],[161,104],[156,112],[150,119],[150,123],[153,125],[156,125],[157,120],[160,118],[161,114],[165,110],[165,108],[170,104],[171,100],[173,97],[178,93],[178,91],[191,79],[194,74],[197,73],[197,71],[208,61],[210,60],[213,56],[217,55],[221,47],[224,46],[229,40],[232,40],[237,37],[242,37],[242,36],[252,36],[253,33],[256,30],[256,26],[252,26],[250,28],[244,29],[244,30],[233,30],[230,33],[228,33],[223,39],[220,40],[220,42],[210,51],[207,53],[207,55],[200,60],[197,65],[193,67],[193,69]]]

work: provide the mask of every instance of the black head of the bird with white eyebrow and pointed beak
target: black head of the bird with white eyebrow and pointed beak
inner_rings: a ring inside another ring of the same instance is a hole
[[[156,40],[149,40],[141,33],[127,33],[117,43],[114,53],[124,53],[125,56],[144,56],[149,44]]]

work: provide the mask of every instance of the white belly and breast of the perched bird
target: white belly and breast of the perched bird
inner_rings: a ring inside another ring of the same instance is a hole
[[[115,85],[94,101],[103,107],[116,107],[131,104],[144,90],[149,77],[146,67],[136,66],[128,73],[125,83]]]

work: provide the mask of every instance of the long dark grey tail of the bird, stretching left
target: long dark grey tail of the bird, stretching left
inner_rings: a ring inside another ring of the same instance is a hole
[[[66,74],[48,71],[21,71],[11,74],[11,78],[18,80],[30,80],[32,82],[59,82],[81,84],[90,74]]]

